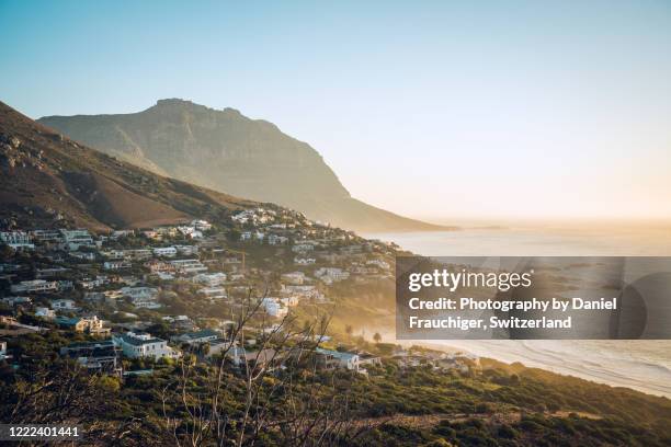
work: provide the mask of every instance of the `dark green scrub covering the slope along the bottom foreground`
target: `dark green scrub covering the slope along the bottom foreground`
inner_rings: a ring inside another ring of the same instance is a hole
[[[487,359],[467,374],[387,359],[367,376],[306,362],[264,375],[248,409],[248,376],[227,368],[218,398],[228,432],[216,437],[194,429],[206,420],[202,403],[216,363],[196,363],[194,353],[183,362],[135,365],[153,374],[122,383],[59,358],[54,346],[78,337],[54,331],[12,341],[24,367],[0,368],[1,421],[83,424],[94,445],[671,444],[668,399]],[[246,411],[251,417],[242,428]],[[182,422],[171,425],[175,420]]]

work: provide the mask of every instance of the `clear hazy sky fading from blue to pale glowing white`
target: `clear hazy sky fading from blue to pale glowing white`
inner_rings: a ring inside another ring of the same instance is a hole
[[[0,89],[231,106],[414,217],[671,217],[669,1],[0,0]]]

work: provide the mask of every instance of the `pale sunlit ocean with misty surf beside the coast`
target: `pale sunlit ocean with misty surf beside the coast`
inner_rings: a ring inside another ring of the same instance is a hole
[[[470,226],[366,233],[432,256],[671,255],[671,228],[637,225]],[[670,322],[671,324],[671,322]],[[502,362],[671,397],[671,341],[431,341]]]

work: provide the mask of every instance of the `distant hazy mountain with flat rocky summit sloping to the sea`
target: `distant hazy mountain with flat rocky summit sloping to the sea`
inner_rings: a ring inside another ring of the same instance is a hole
[[[160,100],[139,113],[47,116],[41,124],[161,175],[359,231],[441,230],[353,198],[321,156],[234,108]]]

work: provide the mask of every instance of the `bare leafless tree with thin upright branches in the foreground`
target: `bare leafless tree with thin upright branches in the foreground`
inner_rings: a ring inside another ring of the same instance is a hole
[[[241,301],[209,373],[203,377],[201,366],[184,355],[161,392],[163,427],[174,444],[346,445],[367,432],[372,424],[353,417],[352,380],[337,380],[339,374],[354,373],[321,374],[316,347],[329,318],[306,325],[289,313],[277,323],[260,311],[262,298],[252,297],[252,290]],[[254,351],[246,348],[250,333]]]

